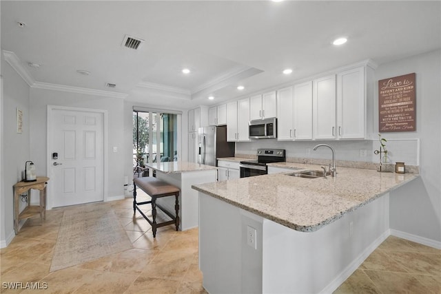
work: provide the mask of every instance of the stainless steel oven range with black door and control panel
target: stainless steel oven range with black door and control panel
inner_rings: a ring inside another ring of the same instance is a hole
[[[268,174],[267,163],[286,161],[285,149],[257,149],[257,160],[240,161],[240,178]]]

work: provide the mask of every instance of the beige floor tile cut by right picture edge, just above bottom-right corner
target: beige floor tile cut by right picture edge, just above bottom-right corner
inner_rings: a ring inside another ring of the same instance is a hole
[[[440,254],[401,251],[389,251],[387,254],[409,273],[441,275]]]

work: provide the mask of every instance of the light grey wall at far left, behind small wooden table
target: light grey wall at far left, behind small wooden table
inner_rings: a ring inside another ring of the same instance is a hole
[[[12,186],[22,180],[25,161],[30,160],[30,87],[6,63],[1,54],[3,77],[3,107],[1,112],[1,227],[0,247],[8,245],[14,237],[14,202]],[[17,134],[16,108],[23,111],[23,133]]]

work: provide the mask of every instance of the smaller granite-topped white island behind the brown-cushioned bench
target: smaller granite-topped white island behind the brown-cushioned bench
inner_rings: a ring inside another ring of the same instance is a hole
[[[185,231],[198,227],[198,192],[192,189],[192,185],[205,182],[216,182],[217,167],[199,165],[194,162],[173,161],[154,162],[146,164],[146,167],[156,171],[156,178],[174,185],[181,190],[179,194],[179,229]],[[156,200],[168,211],[174,211],[174,200],[161,198]]]

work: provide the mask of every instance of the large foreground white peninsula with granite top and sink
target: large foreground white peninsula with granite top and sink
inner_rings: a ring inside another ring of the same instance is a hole
[[[334,291],[389,235],[389,191],[418,178],[343,167],[336,178],[291,173],[193,186],[207,291]]]

